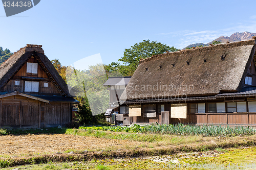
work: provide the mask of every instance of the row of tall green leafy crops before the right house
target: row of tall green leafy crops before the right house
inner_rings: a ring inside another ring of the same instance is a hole
[[[195,126],[195,125],[134,125],[131,127],[80,127],[84,130],[102,130],[112,132],[140,132],[170,135],[203,135],[203,136],[237,136],[254,135],[255,130],[251,127],[238,126]]]

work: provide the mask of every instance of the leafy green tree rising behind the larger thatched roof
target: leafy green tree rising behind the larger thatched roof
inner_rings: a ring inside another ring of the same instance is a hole
[[[113,62],[105,66],[105,68],[108,75],[119,72],[123,76],[132,76],[139,65],[140,59],[175,51],[178,51],[175,47],[170,47],[157,41],[150,42],[150,40],[143,40],[142,42],[134,44],[131,48],[124,50],[123,57],[118,60],[124,65]]]

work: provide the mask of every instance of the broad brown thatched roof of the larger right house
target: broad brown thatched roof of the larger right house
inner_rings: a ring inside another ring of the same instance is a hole
[[[243,88],[255,40],[156,55],[140,61],[122,100],[214,95]]]

